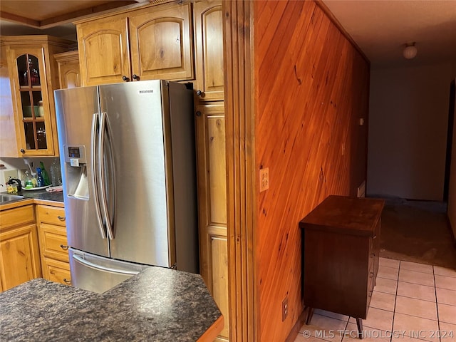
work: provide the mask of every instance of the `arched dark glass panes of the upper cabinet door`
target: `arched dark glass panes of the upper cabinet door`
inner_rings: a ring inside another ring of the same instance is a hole
[[[46,150],[48,144],[38,57],[24,53],[16,58],[16,63],[26,150]]]

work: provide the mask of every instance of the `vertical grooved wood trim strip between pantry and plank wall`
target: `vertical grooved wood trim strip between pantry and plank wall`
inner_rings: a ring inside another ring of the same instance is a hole
[[[254,249],[253,1],[223,1],[229,322],[232,342],[258,341]],[[271,341],[271,340],[270,340]]]

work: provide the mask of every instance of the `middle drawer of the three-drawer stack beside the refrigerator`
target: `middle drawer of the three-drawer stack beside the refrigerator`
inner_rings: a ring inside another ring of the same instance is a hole
[[[51,257],[68,262],[68,245],[66,228],[42,223],[39,227],[41,253],[44,257]]]

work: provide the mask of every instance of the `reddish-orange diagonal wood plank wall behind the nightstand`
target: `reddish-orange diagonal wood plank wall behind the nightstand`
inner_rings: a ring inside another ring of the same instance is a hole
[[[298,223],[366,179],[369,63],[314,1],[255,1],[254,51],[259,341],[285,341],[304,308]]]

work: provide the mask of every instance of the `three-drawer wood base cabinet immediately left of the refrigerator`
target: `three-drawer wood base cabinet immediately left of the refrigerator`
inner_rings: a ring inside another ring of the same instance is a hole
[[[37,205],[36,223],[43,278],[71,285],[65,210],[49,205]]]

